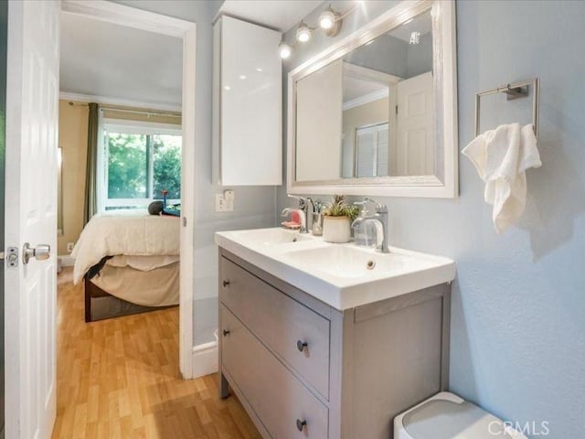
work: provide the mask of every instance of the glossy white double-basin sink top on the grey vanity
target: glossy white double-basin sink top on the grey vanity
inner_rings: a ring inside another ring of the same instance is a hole
[[[455,262],[390,247],[389,253],[331,244],[292,230],[216,233],[216,243],[246,262],[345,310],[451,282]]]

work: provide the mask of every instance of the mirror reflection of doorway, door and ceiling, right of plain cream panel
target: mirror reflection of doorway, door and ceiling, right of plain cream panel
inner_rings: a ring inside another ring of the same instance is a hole
[[[344,178],[435,173],[430,11],[343,59]]]

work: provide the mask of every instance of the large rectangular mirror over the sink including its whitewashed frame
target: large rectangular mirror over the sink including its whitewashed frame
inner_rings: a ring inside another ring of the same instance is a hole
[[[458,196],[455,6],[405,1],[289,73],[293,194]]]

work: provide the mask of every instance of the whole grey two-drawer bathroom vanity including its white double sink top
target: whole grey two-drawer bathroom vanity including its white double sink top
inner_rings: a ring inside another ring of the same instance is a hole
[[[263,437],[388,439],[448,388],[451,260],[281,229],[216,241],[221,397]]]

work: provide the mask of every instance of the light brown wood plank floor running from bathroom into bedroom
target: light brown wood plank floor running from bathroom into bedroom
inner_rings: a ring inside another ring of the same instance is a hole
[[[260,438],[218,376],[182,380],[178,308],[86,324],[82,285],[58,276],[54,438]]]

